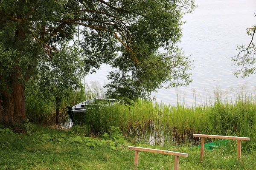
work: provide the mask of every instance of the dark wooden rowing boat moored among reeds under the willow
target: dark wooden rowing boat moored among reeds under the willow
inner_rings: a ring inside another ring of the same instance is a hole
[[[116,105],[119,102],[119,99],[100,96],[86,100],[74,106],[67,106],[67,112],[74,124],[81,124],[82,122],[84,122],[84,119],[86,119],[86,112],[88,112],[89,109]]]

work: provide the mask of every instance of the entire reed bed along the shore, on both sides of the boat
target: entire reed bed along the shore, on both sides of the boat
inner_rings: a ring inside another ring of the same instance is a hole
[[[78,91],[64,97],[61,114],[66,116],[66,106],[75,105],[95,96],[97,92]],[[196,103],[193,102],[193,103]],[[84,126],[87,135],[103,135],[111,126],[119,127],[133,142],[150,144],[198,144],[194,133],[250,137],[243,142],[247,150],[256,148],[256,103],[250,93],[237,93],[230,100],[215,94],[207,105],[188,107],[182,103],[170,105],[139,99],[132,105],[118,104],[96,108],[86,113]],[[55,103],[46,102],[33,95],[26,97],[27,115],[34,122],[49,121],[55,115]],[[209,139],[210,140],[210,139]]]

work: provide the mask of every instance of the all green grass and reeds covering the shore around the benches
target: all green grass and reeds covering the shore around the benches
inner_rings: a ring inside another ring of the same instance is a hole
[[[62,100],[63,116],[66,116],[67,105],[99,93],[84,89]],[[252,96],[241,94],[229,102],[216,95],[212,104],[193,107],[137,100],[132,105],[118,104],[88,111],[84,124],[68,131],[35,125],[47,123],[55,116],[54,102],[27,92],[26,103],[30,120],[9,128],[0,127],[0,167],[3,170],[128,170],[134,166],[134,151],[128,150],[129,145],[189,153],[188,158],[180,158],[180,169],[256,168],[253,161],[256,104]],[[200,144],[200,139],[192,137],[193,133],[243,136],[251,140],[242,142],[241,163],[234,141],[229,141],[227,147],[206,151],[204,161],[200,162],[199,148],[190,149]],[[140,153],[139,170],[172,169],[173,164],[173,156]]]

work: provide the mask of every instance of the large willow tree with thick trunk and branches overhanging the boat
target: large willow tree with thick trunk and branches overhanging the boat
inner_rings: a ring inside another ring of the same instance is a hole
[[[187,85],[190,62],[176,44],[194,8],[194,0],[0,0],[0,124],[26,118],[26,82],[69,44],[81,50],[84,74],[102,63],[115,69],[109,93],[123,87],[135,99],[166,82]]]

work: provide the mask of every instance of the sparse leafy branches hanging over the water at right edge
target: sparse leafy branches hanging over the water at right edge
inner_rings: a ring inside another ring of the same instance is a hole
[[[241,75],[241,77],[244,78],[255,73],[255,67],[253,66],[256,63],[256,46],[253,42],[255,33],[256,26],[253,26],[253,28],[247,28],[247,34],[251,36],[249,45],[238,46],[237,49],[239,50],[239,54],[231,59],[237,69],[236,72],[233,72],[236,77]]]

